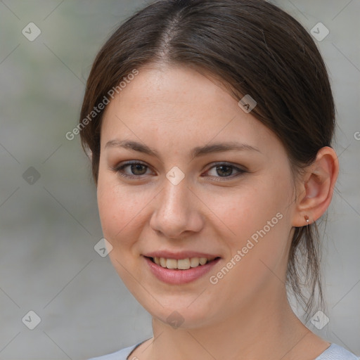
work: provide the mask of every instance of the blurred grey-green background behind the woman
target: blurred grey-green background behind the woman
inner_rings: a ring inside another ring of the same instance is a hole
[[[307,326],[359,356],[360,2],[274,2],[307,30],[321,22],[330,31],[316,41],[333,83],[341,167],[324,239],[330,322]],[[150,315],[94,250],[102,233],[89,162],[79,136],[65,139],[96,52],[142,4],[0,1],[0,359],[84,359],[152,336]],[[41,30],[34,41],[22,34],[30,22]],[[33,184],[29,167],[40,175]],[[30,310],[41,318],[34,330],[22,322]]]

